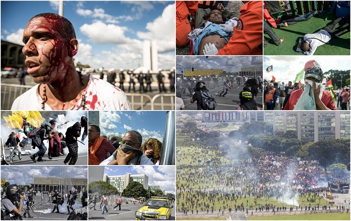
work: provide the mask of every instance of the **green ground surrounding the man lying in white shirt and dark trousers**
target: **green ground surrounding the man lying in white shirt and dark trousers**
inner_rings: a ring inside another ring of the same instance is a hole
[[[326,17],[327,21],[324,21]],[[271,40],[264,48],[264,55],[304,55],[296,52],[298,37],[317,32],[336,18],[334,14],[323,13],[319,17],[312,17],[310,20],[297,22],[288,27],[272,28],[277,37],[284,37],[284,42],[280,46],[276,46]],[[339,24],[343,25],[343,22],[341,21]],[[339,27],[339,24],[335,28]],[[267,34],[264,34],[264,37],[270,38]],[[331,39],[330,44],[319,46],[314,55],[350,55],[350,26],[342,36]]]

